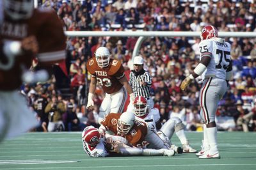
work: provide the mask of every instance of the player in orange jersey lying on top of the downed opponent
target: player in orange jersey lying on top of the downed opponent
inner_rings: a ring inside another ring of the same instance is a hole
[[[120,135],[127,139],[129,144],[137,148],[173,150],[157,135],[154,127],[148,123],[135,120],[133,112],[109,113],[101,121],[99,129],[104,133],[111,131],[114,135]]]

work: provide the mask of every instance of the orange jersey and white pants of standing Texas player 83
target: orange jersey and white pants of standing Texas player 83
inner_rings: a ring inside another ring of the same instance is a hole
[[[100,105],[99,117],[104,118],[109,112],[122,112],[127,100],[127,91],[119,81],[125,76],[122,63],[116,59],[110,59],[106,68],[100,68],[96,59],[91,58],[86,63],[86,68],[106,92]]]

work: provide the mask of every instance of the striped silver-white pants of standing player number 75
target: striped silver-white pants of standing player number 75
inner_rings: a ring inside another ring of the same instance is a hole
[[[206,125],[215,121],[218,104],[226,91],[227,82],[225,80],[213,77],[204,79],[200,89],[199,104],[201,107],[200,116]]]

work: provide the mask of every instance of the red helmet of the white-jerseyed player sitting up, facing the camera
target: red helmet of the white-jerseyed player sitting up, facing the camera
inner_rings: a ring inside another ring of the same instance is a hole
[[[147,99],[145,97],[136,97],[134,99],[134,111],[138,117],[145,116],[147,114]]]

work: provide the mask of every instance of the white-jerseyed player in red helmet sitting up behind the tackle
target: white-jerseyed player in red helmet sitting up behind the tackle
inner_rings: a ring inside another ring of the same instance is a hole
[[[189,144],[184,132],[184,124],[179,118],[170,118],[162,126],[160,122],[159,110],[156,108],[148,109],[146,98],[141,96],[136,97],[133,105],[136,120],[144,121],[149,124],[149,127],[154,127],[159,137],[163,139],[164,143],[169,144],[176,153],[196,153],[196,150],[191,148]],[[177,147],[170,142],[174,132],[179,138],[182,148]]]

